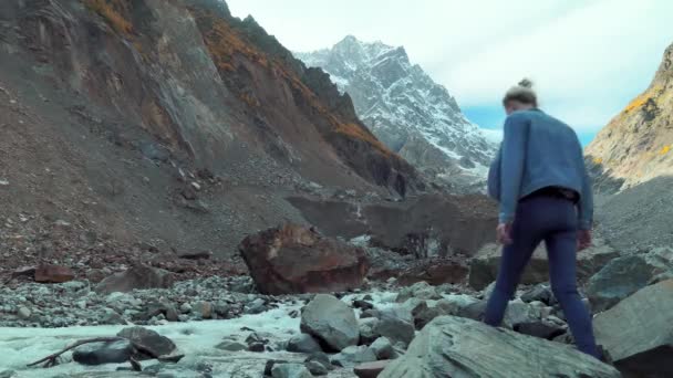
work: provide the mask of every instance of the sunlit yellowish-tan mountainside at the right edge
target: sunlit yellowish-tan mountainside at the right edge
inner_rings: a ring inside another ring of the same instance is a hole
[[[673,45],[648,90],[598,134],[586,154],[603,191],[673,175]]]

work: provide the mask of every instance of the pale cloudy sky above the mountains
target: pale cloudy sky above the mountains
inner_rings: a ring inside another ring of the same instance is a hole
[[[534,80],[541,107],[588,143],[646,88],[673,43],[670,0],[228,0],[292,51],[348,34],[403,45],[467,116],[499,129],[504,92]]]

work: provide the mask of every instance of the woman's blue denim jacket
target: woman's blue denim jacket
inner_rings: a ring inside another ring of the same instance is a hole
[[[537,108],[512,113],[505,120],[505,138],[488,172],[488,193],[500,202],[500,222],[514,220],[519,199],[551,186],[580,195],[579,227],[591,229],[591,180],[574,130]]]

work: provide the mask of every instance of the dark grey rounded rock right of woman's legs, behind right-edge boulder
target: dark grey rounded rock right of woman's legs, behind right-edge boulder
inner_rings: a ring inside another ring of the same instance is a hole
[[[587,295],[596,312],[614,306],[621,300],[645,287],[656,267],[643,256],[614,259],[589,280]]]

